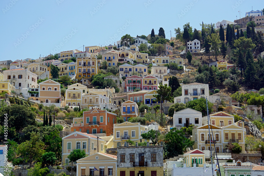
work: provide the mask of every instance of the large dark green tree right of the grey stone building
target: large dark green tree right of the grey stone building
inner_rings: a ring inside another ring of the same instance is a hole
[[[182,130],[171,129],[165,136],[164,153],[168,158],[182,155],[187,147],[194,145],[195,141],[186,138]],[[166,158],[167,158],[166,157]]]

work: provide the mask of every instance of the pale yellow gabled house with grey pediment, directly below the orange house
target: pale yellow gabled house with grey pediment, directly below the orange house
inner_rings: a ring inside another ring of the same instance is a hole
[[[69,163],[67,158],[70,152],[75,149],[85,150],[87,155],[92,155],[97,152],[104,153],[104,140],[100,137],[87,133],[75,131],[62,138],[62,165]]]

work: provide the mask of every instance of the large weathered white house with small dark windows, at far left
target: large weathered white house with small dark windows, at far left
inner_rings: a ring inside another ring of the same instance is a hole
[[[37,87],[37,74],[29,70],[18,68],[12,70],[4,70],[4,81],[9,81],[12,85],[11,90],[17,94],[22,93],[24,97],[30,97],[27,91],[30,88]]]

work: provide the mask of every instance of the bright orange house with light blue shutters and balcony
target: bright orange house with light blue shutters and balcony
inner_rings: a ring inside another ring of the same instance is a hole
[[[83,117],[73,118],[71,131],[80,131],[87,134],[97,134],[106,132],[109,136],[113,134],[116,114],[107,110],[93,108],[84,111]]]

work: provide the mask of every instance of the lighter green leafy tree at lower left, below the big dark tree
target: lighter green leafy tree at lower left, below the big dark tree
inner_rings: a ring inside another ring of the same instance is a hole
[[[33,161],[39,161],[44,153],[44,143],[40,140],[40,135],[32,133],[29,141],[22,142],[17,147],[17,153],[24,158],[25,162],[29,162],[31,166]]]

